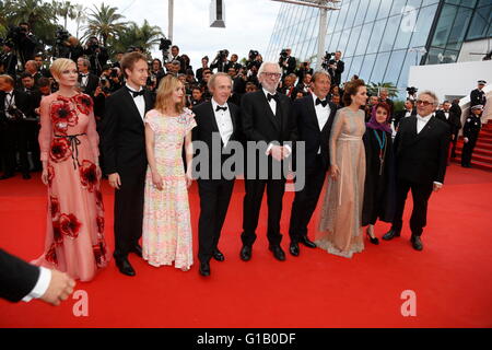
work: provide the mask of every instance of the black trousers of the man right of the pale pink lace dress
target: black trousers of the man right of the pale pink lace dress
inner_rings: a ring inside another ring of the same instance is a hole
[[[198,259],[209,261],[218,247],[234,188],[234,179],[199,179]]]

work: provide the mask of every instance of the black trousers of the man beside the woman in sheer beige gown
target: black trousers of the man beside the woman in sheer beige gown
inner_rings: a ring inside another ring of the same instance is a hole
[[[291,242],[297,243],[303,236],[307,236],[307,225],[318,203],[323,184],[326,178],[326,170],[321,155],[316,156],[316,167],[306,170],[306,183],[304,188],[295,192],[292,203],[289,235]]]

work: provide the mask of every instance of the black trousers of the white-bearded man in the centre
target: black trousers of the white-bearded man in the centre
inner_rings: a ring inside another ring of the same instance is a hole
[[[251,246],[256,241],[256,229],[267,188],[268,229],[267,237],[270,245],[280,245],[280,219],[282,215],[282,199],[285,192],[285,179],[245,179],[246,195],[243,203],[243,234],[244,245]]]

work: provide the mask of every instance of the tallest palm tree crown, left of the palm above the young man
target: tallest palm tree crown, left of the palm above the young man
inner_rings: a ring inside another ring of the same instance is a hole
[[[104,2],[101,8],[94,5],[87,16],[87,25],[84,26],[84,37],[96,36],[106,46],[108,40],[116,37],[127,25],[126,22],[119,22],[125,16],[117,11],[118,8],[105,5]]]

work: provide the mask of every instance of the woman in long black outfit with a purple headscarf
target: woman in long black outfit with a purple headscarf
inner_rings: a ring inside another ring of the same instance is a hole
[[[379,244],[374,234],[374,224],[379,219],[391,222],[394,200],[394,158],[391,128],[389,126],[390,107],[379,102],[373,107],[372,116],[366,122],[366,131],[362,138],[365,147],[365,185],[364,205],[362,209],[362,226],[367,226],[371,243]]]

